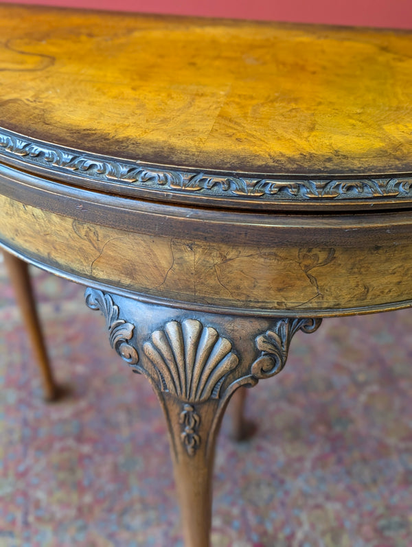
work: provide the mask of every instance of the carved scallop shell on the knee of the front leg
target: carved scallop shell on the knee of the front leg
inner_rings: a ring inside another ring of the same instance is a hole
[[[170,321],[144,344],[144,353],[159,373],[162,391],[188,402],[218,399],[225,376],[238,357],[231,342],[196,319]]]

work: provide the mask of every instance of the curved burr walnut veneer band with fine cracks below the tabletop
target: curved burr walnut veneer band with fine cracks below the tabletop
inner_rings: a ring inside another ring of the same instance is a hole
[[[409,305],[412,296],[412,243],[393,242],[390,235],[385,242],[357,241],[353,234],[344,246],[325,240],[314,248],[281,238],[251,246],[225,243],[225,233],[208,243],[196,234],[109,228],[3,196],[0,210],[3,243],[25,256],[69,277],[183,306],[325,316]]]

